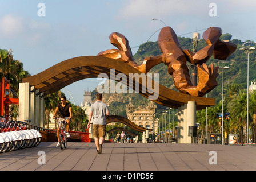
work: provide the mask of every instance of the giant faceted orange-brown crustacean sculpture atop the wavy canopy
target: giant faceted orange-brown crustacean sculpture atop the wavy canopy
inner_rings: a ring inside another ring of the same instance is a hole
[[[168,73],[173,76],[175,87],[181,92],[191,96],[202,97],[218,85],[218,67],[213,64],[208,68],[205,64],[214,55],[215,59],[226,60],[237,48],[230,42],[219,40],[222,30],[219,27],[210,27],[203,32],[203,39],[207,46],[197,52],[183,50],[179,46],[178,37],[171,27],[162,28],[158,36],[158,46],[162,55],[146,57],[141,65],[135,63],[128,40],[122,34],[110,34],[110,43],[118,49],[99,52],[97,56],[105,56],[127,63],[142,73],[147,73],[155,65],[164,63],[168,66]],[[193,86],[190,80],[189,68],[186,62],[197,65],[198,85]]]

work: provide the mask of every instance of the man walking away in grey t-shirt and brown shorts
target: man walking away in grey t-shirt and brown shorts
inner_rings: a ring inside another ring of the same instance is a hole
[[[91,105],[89,114],[89,121],[87,128],[91,126],[91,119],[93,119],[93,135],[94,142],[97,147],[97,153],[102,153],[102,144],[106,136],[106,117],[109,115],[109,107],[102,102],[102,94],[96,94],[97,101]]]

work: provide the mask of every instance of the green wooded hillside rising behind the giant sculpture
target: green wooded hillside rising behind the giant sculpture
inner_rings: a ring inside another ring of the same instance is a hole
[[[241,84],[242,88],[247,87],[247,54],[244,51],[240,51],[239,48],[242,47],[243,43],[241,40],[233,39],[231,40],[230,34],[223,34],[221,39],[229,39],[230,42],[237,45],[237,50],[229,57],[229,59],[222,61],[214,59],[213,56],[206,62],[209,66],[211,63],[214,64],[215,67],[224,67],[227,66],[229,69],[225,70],[224,76],[224,88],[227,88],[227,84]],[[193,49],[193,40],[191,38],[179,37],[179,43],[183,49]],[[206,43],[203,39],[198,42],[198,50],[206,46]],[[254,46],[254,45],[253,45]],[[158,47],[157,42],[146,42],[139,46],[137,53],[134,55],[134,60],[137,63],[142,63],[145,57],[157,56],[161,55],[161,51]],[[250,61],[249,61],[249,84],[251,81],[256,80],[256,51],[250,53]],[[190,63],[187,62],[187,66],[190,69]],[[156,65],[151,69],[149,73],[159,73],[159,84],[166,86],[167,88],[175,89],[173,79],[171,75],[167,73],[167,66],[163,63]],[[190,74],[191,75],[191,74]],[[222,72],[219,72],[219,76],[217,77],[218,86],[207,94],[207,97],[215,98],[216,103],[218,103],[222,99]],[[177,91],[177,90],[176,90]],[[93,91],[93,98],[95,98],[95,93],[97,91]],[[141,96],[138,93],[134,94],[103,94],[103,98],[105,102],[109,105],[110,113],[115,115],[123,115],[126,116],[126,104],[129,102],[129,97],[132,97],[132,102],[135,106],[142,105],[143,107],[149,103],[149,101]],[[162,110],[165,110],[165,106],[157,105],[157,117],[162,113]]]

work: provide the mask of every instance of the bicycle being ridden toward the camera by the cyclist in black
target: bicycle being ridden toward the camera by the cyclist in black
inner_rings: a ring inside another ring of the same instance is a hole
[[[67,148],[67,131],[65,129],[66,127],[66,120],[70,119],[69,117],[66,118],[55,118],[58,121],[58,128],[61,130],[59,133],[59,146],[61,147],[61,150],[63,148]]]

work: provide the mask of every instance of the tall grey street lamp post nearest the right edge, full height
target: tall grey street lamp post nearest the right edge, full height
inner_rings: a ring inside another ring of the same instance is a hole
[[[246,51],[248,54],[247,58],[247,111],[246,111],[246,143],[249,141],[248,127],[249,127],[249,51],[255,50],[255,47],[242,47],[239,50]]]

